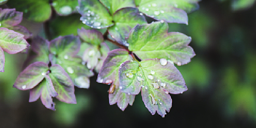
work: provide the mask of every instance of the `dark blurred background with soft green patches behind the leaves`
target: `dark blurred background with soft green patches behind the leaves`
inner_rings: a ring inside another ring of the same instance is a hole
[[[165,118],[151,115],[140,94],[124,112],[109,105],[109,85],[96,83],[96,76],[90,79],[90,89],[75,87],[76,105],[54,98],[52,111],[40,99],[29,103],[29,91],[12,87],[27,56],[18,53],[5,54],[5,72],[0,73],[0,128],[255,128],[256,5],[234,11],[230,0],[199,4],[200,9],[188,15],[188,25],[169,23],[169,31],[192,37],[196,56],[177,67],[188,91],[171,95],[172,109]],[[51,37],[76,35],[77,28],[86,27],[79,19],[79,14],[55,16],[49,22]],[[23,19],[21,25],[44,36],[43,23]]]

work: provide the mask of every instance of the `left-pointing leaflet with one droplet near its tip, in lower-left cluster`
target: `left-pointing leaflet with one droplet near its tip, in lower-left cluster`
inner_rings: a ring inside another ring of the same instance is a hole
[[[20,73],[13,87],[20,90],[32,89],[43,80],[47,71],[48,64],[44,62],[34,62]]]

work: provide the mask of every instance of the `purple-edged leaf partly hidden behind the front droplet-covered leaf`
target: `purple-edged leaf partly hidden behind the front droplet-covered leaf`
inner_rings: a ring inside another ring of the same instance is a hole
[[[97,82],[99,83],[112,83],[109,90],[109,104],[114,105],[117,103],[122,111],[124,111],[128,104],[132,105],[135,98],[135,95],[122,93],[119,89],[118,71],[120,65],[127,60],[132,60],[128,51],[123,49],[112,50],[104,60],[97,78]]]

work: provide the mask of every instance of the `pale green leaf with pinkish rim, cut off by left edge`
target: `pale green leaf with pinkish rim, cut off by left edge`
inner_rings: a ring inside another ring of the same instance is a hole
[[[1,27],[0,47],[9,54],[16,54],[29,46],[23,37],[20,33]]]

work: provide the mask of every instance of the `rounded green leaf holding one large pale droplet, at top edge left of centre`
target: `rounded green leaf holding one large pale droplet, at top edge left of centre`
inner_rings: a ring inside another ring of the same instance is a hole
[[[77,0],[53,0],[52,6],[54,10],[56,10],[57,14],[67,16],[76,12],[78,2]]]

